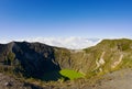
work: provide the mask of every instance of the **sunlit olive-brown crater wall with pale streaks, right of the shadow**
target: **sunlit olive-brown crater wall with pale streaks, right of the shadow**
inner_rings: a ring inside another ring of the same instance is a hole
[[[82,51],[59,51],[57,62],[62,68],[95,75],[131,67],[131,40],[103,40],[96,46]]]

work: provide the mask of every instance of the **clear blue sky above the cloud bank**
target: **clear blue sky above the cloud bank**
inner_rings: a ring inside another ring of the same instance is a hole
[[[0,38],[132,37],[132,0],[0,0]]]

